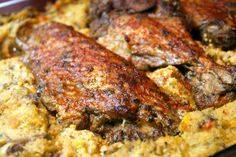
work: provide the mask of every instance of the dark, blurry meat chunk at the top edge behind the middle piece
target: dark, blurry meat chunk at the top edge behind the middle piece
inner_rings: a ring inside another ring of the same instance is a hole
[[[156,6],[156,0],[91,0],[89,9],[91,37],[104,35],[109,25],[106,13],[112,10],[129,13],[144,12]],[[104,17],[98,20],[98,18]]]

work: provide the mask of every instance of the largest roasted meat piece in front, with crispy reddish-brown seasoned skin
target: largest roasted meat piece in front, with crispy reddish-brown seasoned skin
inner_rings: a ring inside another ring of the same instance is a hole
[[[90,129],[110,142],[175,134],[178,117],[143,73],[71,27],[38,27],[26,42],[39,95],[62,124]]]

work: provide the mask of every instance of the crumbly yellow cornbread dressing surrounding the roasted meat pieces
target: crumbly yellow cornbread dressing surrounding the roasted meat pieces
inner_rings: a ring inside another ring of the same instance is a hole
[[[16,39],[27,23],[40,25],[51,21],[70,25],[88,36],[89,4],[90,0],[58,0],[48,5],[45,12],[27,8],[19,13],[0,15],[0,156],[205,157],[236,144],[236,100],[220,108],[197,111],[185,79],[174,66],[147,72],[147,76],[162,92],[178,98],[176,101],[182,105],[178,135],[108,144],[100,135],[77,130],[74,125],[62,129],[54,113],[39,99],[32,72],[21,58],[15,57],[24,53]],[[131,61],[127,39],[115,33],[110,35],[98,38],[97,42]],[[236,50],[200,46],[218,64],[236,65]],[[191,108],[185,108],[186,104]]]

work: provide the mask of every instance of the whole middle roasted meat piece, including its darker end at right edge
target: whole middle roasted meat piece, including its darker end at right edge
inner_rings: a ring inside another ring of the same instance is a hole
[[[107,25],[99,43],[141,70],[177,66],[192,86],[200,109],[235,99],[234,68],[228,70],[206,57],[178,17],[111,12],[101,17],[102,22]]]

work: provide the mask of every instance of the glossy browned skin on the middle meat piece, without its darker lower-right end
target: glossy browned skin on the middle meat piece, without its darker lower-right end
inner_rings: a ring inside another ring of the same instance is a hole
[[[107,33],[98,41],[109,46],[113,43],[107,40],[121,35],[130,49],[130,56],[126,59],[138,69],[186,64],[197,57],[198,46],[178,18],[118,14],[111,14]]]

